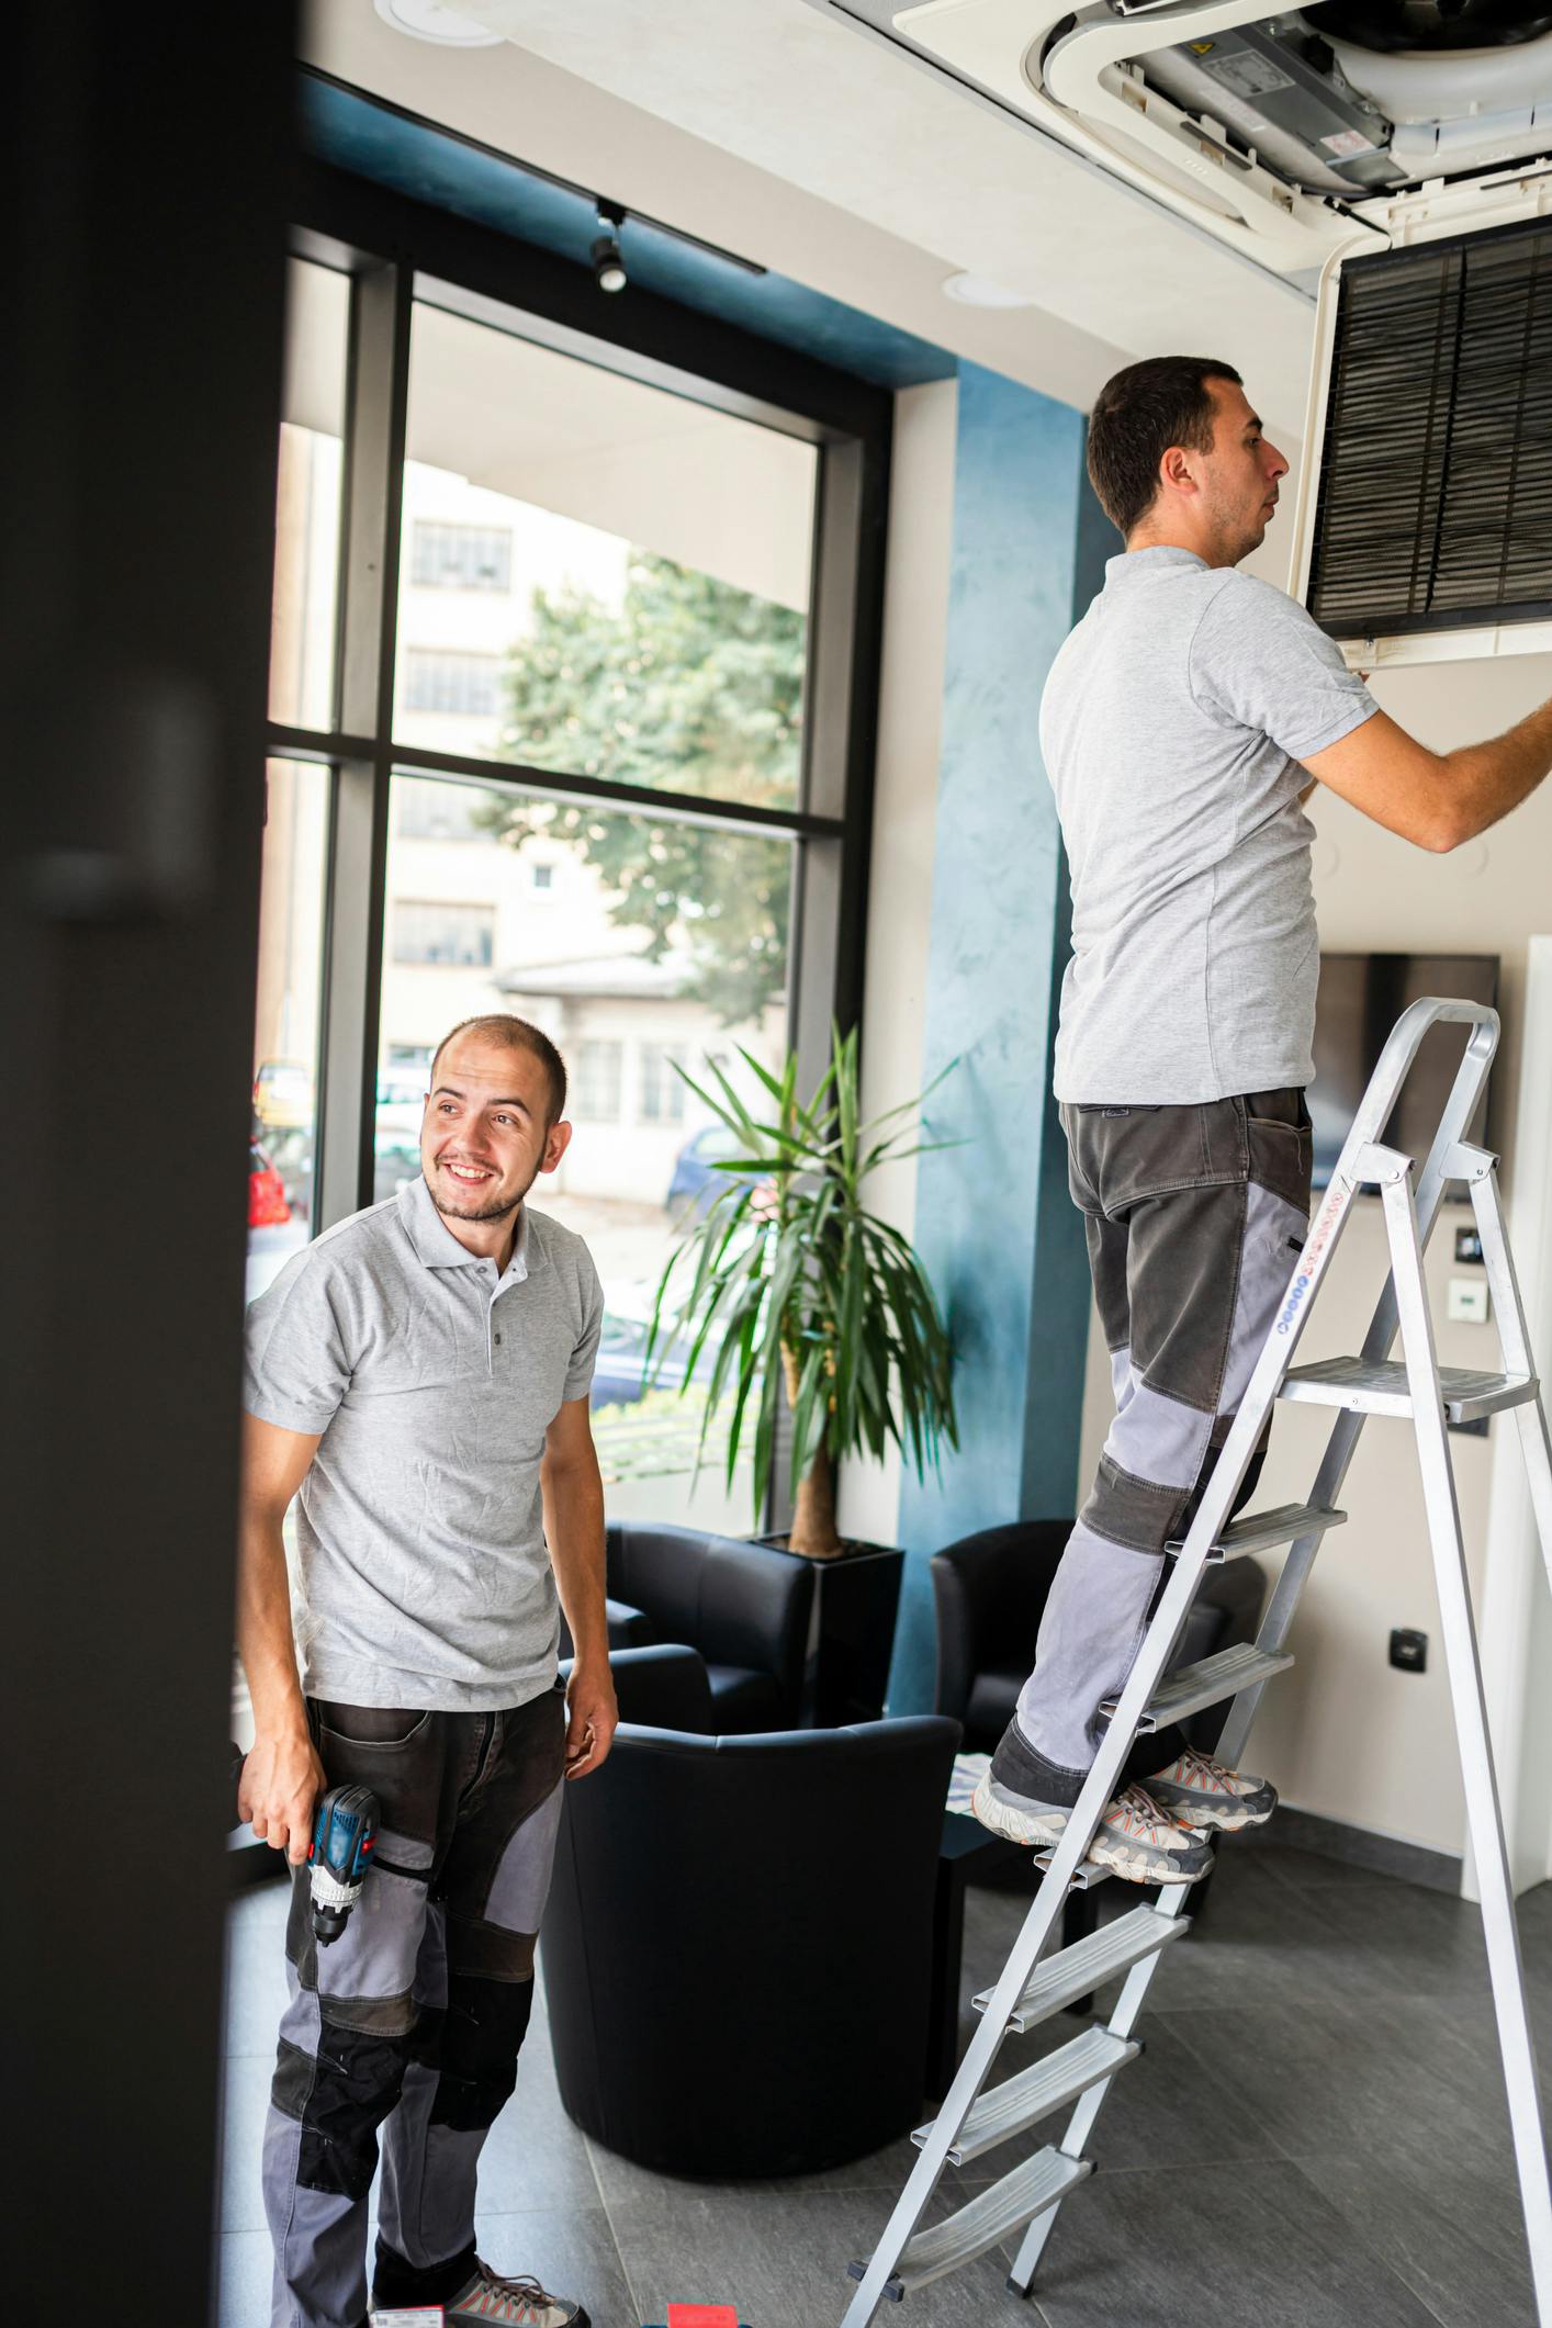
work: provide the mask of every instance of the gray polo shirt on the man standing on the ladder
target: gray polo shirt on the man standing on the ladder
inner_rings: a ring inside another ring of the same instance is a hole
[[[1073,868],[1056,1099],[1184,1106],[1310,1083],[1301,759],[1373,712],[1270,582],[1189,549],[1110,559],[1040,703]]]

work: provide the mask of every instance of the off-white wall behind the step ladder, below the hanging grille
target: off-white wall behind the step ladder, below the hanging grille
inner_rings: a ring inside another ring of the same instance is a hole
[[[1394,719],[1443,750],[1498,733],[1552,694],[1552,656],[1380,673],[1373,694]],[[1512,1190],[1526,943],[1552,927],[1552,785],[1450,857],[1412,850],[1331,794],[1315,794],[1310,815],[1319,826],[1315,899],[1326,950],[1501,954],[1503,1045],[1489,1141],[1503,1155],[1503,1183]],[[1552,1059],[1545,1071],[1552,1073]],[[1464,1208],[1445,1208],[1429,1250],[1438,1355],[1447,1367],[1492,1367],[1492,1327],[1450,1325],[1443,1315],[1452,1232],[1466,1218]],[[1380,1206],[1359,1199],[1301,1343],[1301,1362],[1359,1348],[1382,1278]],[[1094,1322],[1082,1476],[1094,1469],[1110,1413],[1110,1374]],[[1303,1502],[1326,1422],[1319,1408],[1280,1413],[1256,1504]],[[1505,1422],[1494,1422],[1494,1432],[1501,1429]],[[1480,1604],[1494,1448],[1454,1436],[1452,1450]],[[1347,1527],[1322,1550],[1291,1634],[1298,1662],[1266,1692],[1254,1767],[1305,1811],[1461,1851],[1454,1727],[1417,1462],[1403,1425],[1366,1427],[1343,1509]],[[1398,1674],[1387,1665],[1394,1625],[1419,1625],[1429,1634],[1426,1674]]]

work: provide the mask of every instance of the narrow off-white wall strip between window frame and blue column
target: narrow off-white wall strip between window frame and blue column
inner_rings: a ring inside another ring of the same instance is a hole
[[[959,389],[952,379],[896,396],[868,882],[866,1115],[882,1115],[921,1090],[956,412]],[[870,1183],[870,1201],[910,1236],[917,1208],[914,1162],[884,1164]],[[845,1534],[898,1543],[898,1457],[842,1467]]]

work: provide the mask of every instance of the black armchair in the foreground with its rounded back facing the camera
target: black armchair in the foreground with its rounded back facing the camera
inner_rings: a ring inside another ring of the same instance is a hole
[[[614,1751],[565,1788],[540,1944],[561,2100],[656,2172],[824,2172],[919,2118],[959,1727],[638,1727],[675,1688],[693,1718],[691,1665],[617,1658]]]

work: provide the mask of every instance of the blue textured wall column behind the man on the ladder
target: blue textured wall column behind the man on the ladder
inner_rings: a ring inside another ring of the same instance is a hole
[[[921,1157],[914,1227],[959,1353],[961,1446],[942,1481],[900,1490],[896,1713],[933,1702],[928,1555],[1077,1497],[1089,1269],[1049,1096],[1070,901],[1038,717],[1119,549],[1082,440],[1068,405],[961,368],[924,1083],[959,1057],[931,1120],[966,1145]]]

